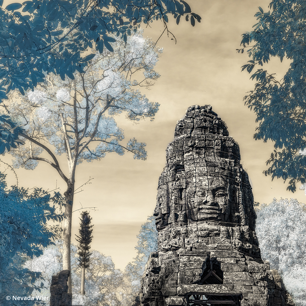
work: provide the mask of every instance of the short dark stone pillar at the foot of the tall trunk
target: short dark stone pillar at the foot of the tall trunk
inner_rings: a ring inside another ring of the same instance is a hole
[[[56,275],[52,275],[50,286],[50,306],[69,306],[71,305],[72,295],[68,293],[69,270],[63,270]]]

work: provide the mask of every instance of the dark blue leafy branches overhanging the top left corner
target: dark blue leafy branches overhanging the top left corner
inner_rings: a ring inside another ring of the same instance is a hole
[[[28,0],[2,8],[0,1],[0,99],[17,88],[36,87],[50,72],[67,75],[84,72],[86,63],[95,54],[82,57],[92,48],[113,51],[113,33],[125,42],[141,23],[162,20],[167,28],[168,16],[177,24],[185,15],[195,19],[188,3],[178,0]],[[17,11],[22,9],[22,13]]]

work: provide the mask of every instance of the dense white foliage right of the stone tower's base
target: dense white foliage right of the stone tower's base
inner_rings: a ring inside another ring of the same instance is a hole
[[[306,210],[296,199],[274,198],[269,205],[256,209],[256,234],[261,255],[271,269],[280,272],[286,289],[299,300],[306,300]]]

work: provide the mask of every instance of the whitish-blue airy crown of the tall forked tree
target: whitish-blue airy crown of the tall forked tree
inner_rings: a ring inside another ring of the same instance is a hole
[[[162,50],[156,49],[150,39],[144,39],[142,30],[129,36],[126,43],[110,36],[116,39],[112,43],[114,52],[105,48],[102,54],[97,53],[85,73],[76,72],[74,80],[64,81],[50,73],[39,89],[21,96],[21,103],[11,99],[8,105],[12,118],[28,136],[41,144],[51,144],[55,155],[70,156],[70,169],[72,163],[91,162],[107,152],[125,153],[125,146],[120,144],[123,129],[117,126],[114,116],[126,112],[126,118],[132,121],[153,120],[159,108],[158,103],[150,102],[134,88],[140,84],[151,86],[150,80],[159,77],[153,68]],[[144,77],[131,83],[132,75],[137,72],[140,76],[141,71]],[[134,158],[146,159],[144,146],[133,139],[126,148],[134,153]],[[28,147],[12,148],[10,153],[16,158],[15,166],[34,169],[42,149],[37,149],[33,141]]]

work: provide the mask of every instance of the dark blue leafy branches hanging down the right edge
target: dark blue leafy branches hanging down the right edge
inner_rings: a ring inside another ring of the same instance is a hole
[[[251,79],[256,80],[255,89],[244,97],[245,104],[257,114],[254,138],[275,142],[275,150],[267,160],[270,165],[264,174],[290,179],[287,190],[294,192],[296,183],[305,183],[306,156],[300,152],[306,148],[306,3],[301,0],[273,0],[269,11],[259,7],[255,14],[258,23],[252,32],[242,35],[243,53],[246,49],[252,60],[242,66]],[[251,44],[251,47],[248,47]],[[282,80],[275,73],[260,66],[270,57],[291,61]],[[259,68],[256,72],[254,68]]]

